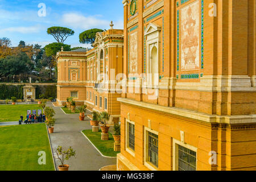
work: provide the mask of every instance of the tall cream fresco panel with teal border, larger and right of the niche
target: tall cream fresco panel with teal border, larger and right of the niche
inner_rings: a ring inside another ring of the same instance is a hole
[[[180,11],[181,71],[200,68],[199,1]]]

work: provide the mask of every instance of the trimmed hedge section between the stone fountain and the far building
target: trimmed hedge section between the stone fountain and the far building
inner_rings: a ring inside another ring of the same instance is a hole
[[[57,86],[55,85],[36,85],[36,98],[43,94],[46,98],[57,98]]]

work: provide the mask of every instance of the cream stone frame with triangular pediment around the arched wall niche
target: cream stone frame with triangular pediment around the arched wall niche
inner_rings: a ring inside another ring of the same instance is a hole
[[[154,47],[157,49],[157,57],[158,57],[158,73],[160,74],[160,46],[161,46],[161,27],[150,23],[148,24],[148,27],[146,28],[146,31],[144,32],[144,36],[146,37],[146,49],[147,49],[147,55],[146,55],[146,65],[147,65],[147,73],[151,73],[151,52]],[[147,77],[147,82],[150,83],[150,78]],[[159,77],[158,77],[158,83],[159,83]],[[151,83],[153,85],[153,83]]]

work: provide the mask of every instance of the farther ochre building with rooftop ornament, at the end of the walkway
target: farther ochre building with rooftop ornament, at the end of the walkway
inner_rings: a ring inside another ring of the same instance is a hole
[[[98,32],[93,49],[57,53],[57,104],[73,97],[90,111],[108,111],[109,124],[119,121],[121,93],[111,92],[109,78],[123,72],[123,30]],[[115,80],[113,78],[113,80]],[[115,87],[115,84],[112,84]]]

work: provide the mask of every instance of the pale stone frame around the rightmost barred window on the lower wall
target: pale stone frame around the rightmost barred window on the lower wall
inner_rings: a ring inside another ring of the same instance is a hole
[[[196,169],[197,169],[197,148],[193,147],[187,143],[180,142],[179,140],[172,139],[172,152],[173,152],[173,169],[172,171],[178,171],[179,170],[179,148],[177,145],[183,146],[185,148],[188,148],[189,150],[195,151],[196,152]]]

